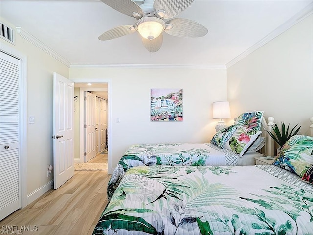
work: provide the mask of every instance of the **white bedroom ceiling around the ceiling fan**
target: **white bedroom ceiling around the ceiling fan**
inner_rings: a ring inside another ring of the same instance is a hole
[[[179,38],[163,33],[156,53],[143,47],[138,33],[98,40],[103,32],[136,21],[99,0],[0,0],[0,16],[71,64],[225,65],[310,4],[312,0],[195,0],[177,17],[204,25],[208,34]]]

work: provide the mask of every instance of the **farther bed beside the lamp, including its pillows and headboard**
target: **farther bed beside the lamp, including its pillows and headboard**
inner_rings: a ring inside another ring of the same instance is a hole
[[[125,172],[136,166],[254,165],[255,157],[273,155],[273,141],[265,131],[273,121],[274,118],[269,117],[266,122],[263,111],[249,111],[239,115],[233,125],[218,131],[210,143],[132,145],[112,173],[108,199],[111,199]]]

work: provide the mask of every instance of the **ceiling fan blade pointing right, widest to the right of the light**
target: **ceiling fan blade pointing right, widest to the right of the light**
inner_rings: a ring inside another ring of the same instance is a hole
[[[172,24],[173,27],[165,29],[164,32],[172,36],[196,38],[203,37],[208,32],[202,24],[183,18],[172,19],[166,22],[166,25],[168,24]]]

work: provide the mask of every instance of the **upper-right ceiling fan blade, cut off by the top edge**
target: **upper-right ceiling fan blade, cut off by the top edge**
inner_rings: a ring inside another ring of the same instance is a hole
[[[155,0],[153,11],[157,17],[169,19],[184,11],[194,0]],[[157,15],[159,10],[164,11],[164,16]]]

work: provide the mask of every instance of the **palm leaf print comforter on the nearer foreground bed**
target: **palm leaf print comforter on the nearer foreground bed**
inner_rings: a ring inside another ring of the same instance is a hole
[[[134,167],[100,234],[313,235],[313,185],[274,165]]]

